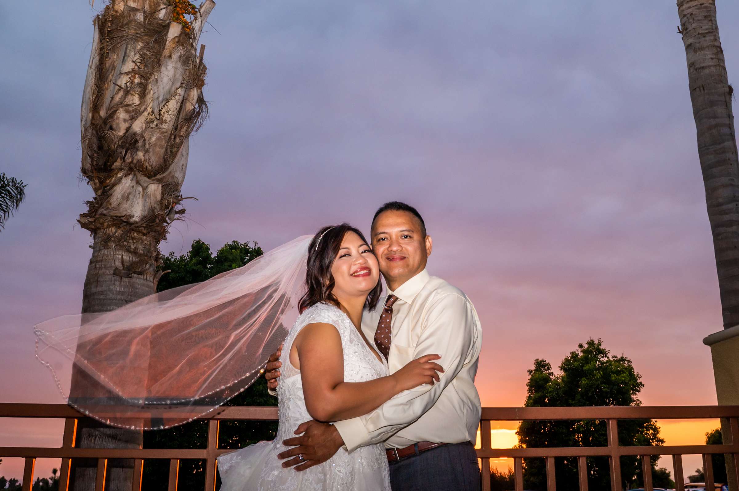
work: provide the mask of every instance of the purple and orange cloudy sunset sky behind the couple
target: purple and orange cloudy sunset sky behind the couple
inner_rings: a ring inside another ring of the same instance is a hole
[[[81,309],[79,114],[102,4],[0,5],[0,172],[28,185],[0,232],[3,402],[61,402],[33,324]],[[739,4],[719,0],[718,20],[731,81]],[[483,405],[522,405],[534,359],[559,365],[588,337],[633,360],[644,405],[716,403],[701,340],[721,306],[674,0],[220,0],[209,21],[210,119],[183,186],[199,201],[164,253],[368,231],[400,199],[434,240],[429,272],[480,315]],[[661,423],[667,444],[718,425]],[[515,426],[494,428],[508,442]],[[2,445],[59,442],[56,422],[0,422]]]

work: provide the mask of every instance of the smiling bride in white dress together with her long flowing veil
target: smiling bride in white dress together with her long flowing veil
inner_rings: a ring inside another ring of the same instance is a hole
[[[340,450],[304,472],[277,458],[286,448],[280,442],[308,419],[362,416],[401,391],[438,382],[435,354],[388,375],[361,331],[362,311],[380,293],[378,261],[361,232],[323,227],[200,284],[37,324],[35,355],[86,416],[161,430],[218,411],[284,341],[276,439],[220,456],[221,490],[389,490],[382,444]],[[283,320],[296,316],[285,329]]]

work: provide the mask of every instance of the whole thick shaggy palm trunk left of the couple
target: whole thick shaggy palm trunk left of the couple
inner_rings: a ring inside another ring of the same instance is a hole
[[[213,0],[173,21],[182,0],[111,0],[93,22],[82,110],[81,174],[95,193],[78,222],[93,237],[82,313],[109,312],[151,295],[161,274],[159,243],[184,213],[180,193],[188,139],[207,114],[205,64],[196,47]],[[183,20],[183,18],[180,18]],[[70,399],[91,385],[75,371]],[[137,448],[140,430],[80,420],[78,447]],[[97,463],[72,461],[72,488],[95,489]],[[106,490],[130,490],[131,459],[112,460]]]

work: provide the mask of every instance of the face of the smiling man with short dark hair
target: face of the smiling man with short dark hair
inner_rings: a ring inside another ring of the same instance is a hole
[[[423,271],[431,245],[431,237],[423,236],[413,213],[384,211],[372,224],[372,252],[391,290]]]

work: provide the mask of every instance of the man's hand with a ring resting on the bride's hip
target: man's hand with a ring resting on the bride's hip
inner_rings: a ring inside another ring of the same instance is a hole
[[[308,467],[321,464],[333,457],[333,454],[338,452],[344,444],[344,440],[341,439],[341,435],[333,425],[319,423],[315,419],[302,423],[295,430],[295,434],[300,436],[288,438],[282,442],[286,447],[297,445],[277,456],[279,459],[293,457],[293,459],[282,462],[282,467],[300,464],[295,470],[306,470]],[[302,454],[304,460],[301,461],[297,457],[298,454]]]

